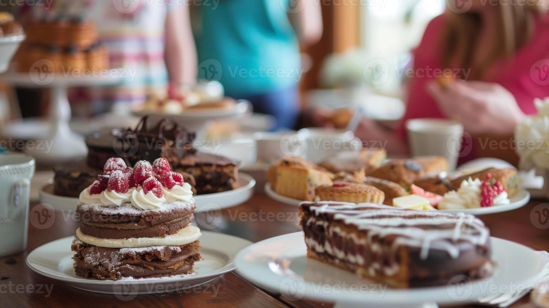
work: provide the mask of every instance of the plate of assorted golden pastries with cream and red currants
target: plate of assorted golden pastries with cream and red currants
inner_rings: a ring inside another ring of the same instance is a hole
[[[444,157],[385,163],[380,157],[384,158],[383,151],[363,149],[318,166],[304,158],[286,157],[268,169],[265,191],[272,199],[295,206],[302,201],[373,202],[474,215],[515,210],[530,200],[514,168],[450,173]]]

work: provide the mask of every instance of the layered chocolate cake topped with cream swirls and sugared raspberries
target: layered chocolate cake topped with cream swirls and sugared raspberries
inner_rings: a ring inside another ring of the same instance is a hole
[[[201,259],[195,208],[191,185],[165,158],[135,168],[109,159],[80,194],[82,224],[71,247],[76,274],[118,280],[193,273]]]

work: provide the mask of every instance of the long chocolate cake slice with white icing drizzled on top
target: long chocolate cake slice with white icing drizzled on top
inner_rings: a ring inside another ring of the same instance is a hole
[[[396,288],[491,274],[490,232],[464,214],[377,204],[302,202],[307,257]]]

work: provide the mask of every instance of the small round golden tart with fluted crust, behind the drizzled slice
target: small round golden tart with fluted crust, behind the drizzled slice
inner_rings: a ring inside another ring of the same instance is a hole
[[[371,202],[383,204],[385,194],[382,190],[368,184],[335,183],[331,186],[319,186],[316,194],[321,201],[350,203]]]

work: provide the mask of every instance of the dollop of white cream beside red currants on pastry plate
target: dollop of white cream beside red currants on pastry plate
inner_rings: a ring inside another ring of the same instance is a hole
[[[481,181],[480,179],[467,179],[461,182],[457,191],[452,190],[444,195],[444,199],[439,202],[440,210],[460,210],[462,208],[480,207],[481,201]]]

